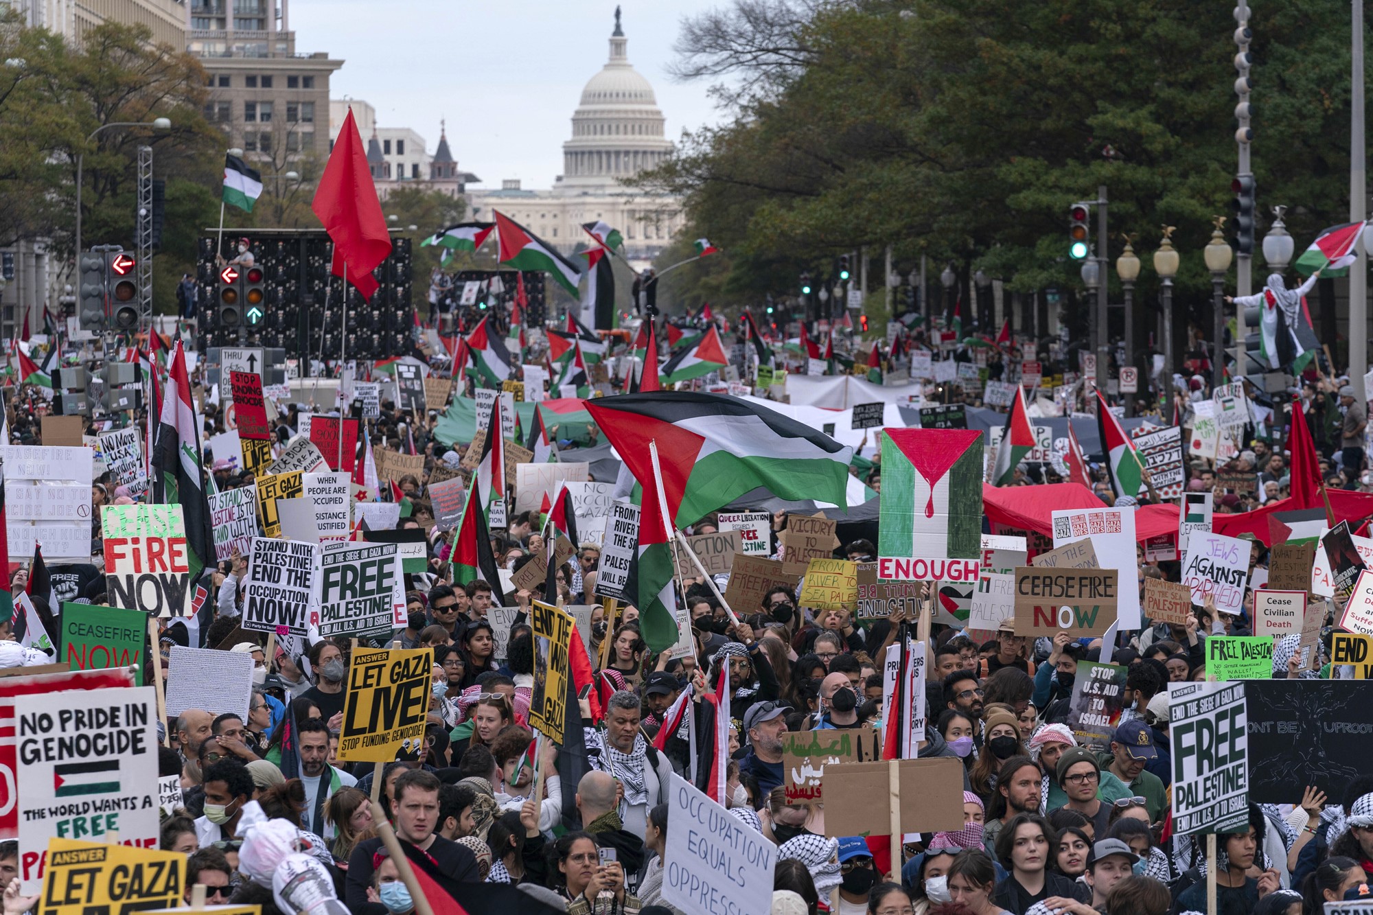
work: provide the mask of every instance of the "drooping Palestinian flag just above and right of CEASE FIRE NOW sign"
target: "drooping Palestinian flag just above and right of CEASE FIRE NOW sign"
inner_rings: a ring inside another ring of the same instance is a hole
[[[180,339],[172,350],[152,471],[154,501],[181,506],[185,545],[189,548],[187,561],[191,581],[195,583],[202,569],[214,569],[214,529],[210,525],[210,503],[200,488],[200,436],[195,427],[191,376],[185,371],[185,352]]]

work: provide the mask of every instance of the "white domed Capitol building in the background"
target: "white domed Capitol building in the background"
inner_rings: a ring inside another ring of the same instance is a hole
[[[564,254],[590,240],[584,223],[604,221],[625,236],[625,254],[636,268],[663,250],[682,227],[681,201],[621,184],[673,154],[654,87],[629,62],[627,43],[616,8],[610,59],[582,88],[553,187],[530,190],[518,180],[500,188],[467,187],[472,218],[490,221],[500,210]]]

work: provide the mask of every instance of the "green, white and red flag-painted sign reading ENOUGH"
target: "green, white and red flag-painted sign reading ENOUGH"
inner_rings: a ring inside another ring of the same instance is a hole
[[[877,577],[976,581],[982,565],[982,433],[881,433]]]

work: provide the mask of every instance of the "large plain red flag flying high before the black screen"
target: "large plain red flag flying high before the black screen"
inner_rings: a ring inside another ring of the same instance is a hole
[[[347,280],[362,298],[372,298],[379,286],[372,271],[391,253],[391,234],[386,231],[353,109],[343,118],[310,209],[334,239],[334,275],[343,276],[346,268]]]

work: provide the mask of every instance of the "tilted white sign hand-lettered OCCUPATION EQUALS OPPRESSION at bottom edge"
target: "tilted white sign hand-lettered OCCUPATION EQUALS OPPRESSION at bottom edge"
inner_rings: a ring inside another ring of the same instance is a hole
[[[676,772],[669,793],[663,901],[695,914],[770,911],[777,846]]]

